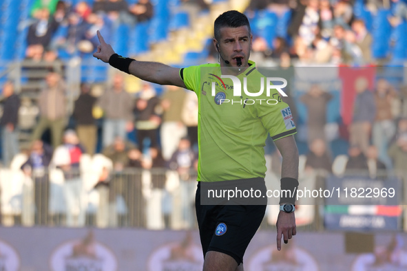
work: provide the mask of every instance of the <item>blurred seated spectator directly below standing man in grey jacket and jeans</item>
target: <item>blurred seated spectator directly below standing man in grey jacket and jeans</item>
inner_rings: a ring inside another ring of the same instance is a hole
[[[129,157],[127,152],[134,149],[134,144],[124,140],[120,136],[116,137],[113,144],[103,149],[103,155],[112,160],[113,168],[116,171],[122,171],[123,168],[129,164]]]

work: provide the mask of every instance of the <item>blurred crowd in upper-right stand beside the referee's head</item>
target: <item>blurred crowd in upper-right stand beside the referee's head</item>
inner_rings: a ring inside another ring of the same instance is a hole
[[[371,17],[376,16],[378,10],[390,10],[386,19],[393,29],[407,18],[407,5],[403,0],[251,1],[247,15],[252,21],[262,20],[257,18],[259,10],[280,17],[291,12],[286,33],[278,33],[273,41],[267,41],[262,34],[255,35],[253,51],[260,56],[259,59],[272,59],[278,63],[281,58],[290,56],[296,65],[377,65],[381,60],[372,55],[374,40],[367,25],[372,21],[356,17],[356,5],[369,12]],[[375,39],[387,38],[376,36]]]

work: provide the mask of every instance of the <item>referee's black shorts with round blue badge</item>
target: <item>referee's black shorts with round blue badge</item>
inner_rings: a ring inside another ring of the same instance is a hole
[[[217,251],[228,254],[238,265],[255,232],[267,205],[200,205],[200,182],[196,190],[195,208],[200,242],[205,254]]]

